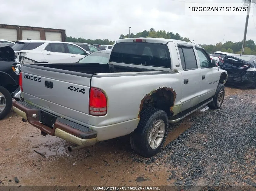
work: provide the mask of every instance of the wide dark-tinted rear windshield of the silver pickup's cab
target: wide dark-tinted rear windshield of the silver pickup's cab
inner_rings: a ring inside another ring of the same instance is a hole
[[[110,62],[171,67],[167,45],[158,43],[117,43],[112,49]]]

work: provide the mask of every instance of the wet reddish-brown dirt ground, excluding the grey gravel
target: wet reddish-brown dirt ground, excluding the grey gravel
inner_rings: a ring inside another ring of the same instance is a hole
[[[255,93],[252,89],[226,87],[226,97]],[[168,134],[165,145],[190,128],[188,119],[193,115],[184,119],[178,128]],[[157,162],[146,165],[132,160],[129,136],[69,152],[69,142],[50,135],[42,136],[28,122],[22,123],[22,118],[13,111],[0,121],[0,128],[2,186],[173,184],[172,180],[166,179],[172,169]],[[18,184],[14,177],[18,178]],[[138,182],[138,177],[146,181]]]

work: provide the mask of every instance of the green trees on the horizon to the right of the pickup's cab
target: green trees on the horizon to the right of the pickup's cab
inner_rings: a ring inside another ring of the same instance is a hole
[[[216,51],[222,51],[227,53],[241,54],[243,41],[235,42],[227,41],[225,43],[216,43],[215,45],[199,44],[208,53],[214,53]],[[256,55],[256,45],[253,40],[245,41],[244,54]]]

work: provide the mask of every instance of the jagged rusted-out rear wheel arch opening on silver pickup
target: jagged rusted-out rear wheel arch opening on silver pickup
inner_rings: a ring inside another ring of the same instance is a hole
[[[176,92],[172,88],[167,87],[151,91],[141,100],[138,116],[140,116],[141,111],[147,107],[155,107],[164,110],[168,117],[173,115],[171,108],[173,107],[176,95]]]

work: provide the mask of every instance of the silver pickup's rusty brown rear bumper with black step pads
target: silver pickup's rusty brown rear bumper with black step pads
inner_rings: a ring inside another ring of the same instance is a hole
[[[44,124],[42,121],[44,121],[45,116],[43,116],[43,113],[45,113],[45,111],[25,101],[14,102],[13,110],[32,126],[35,126],[49,135],[55,135],[69,142],[83,146],[94,145],[97,142],[96,131],[48,112],[46,113],[50,116],[50,123],[52,122],[52,125],[50,126],[49,123],[48,125]],[[49,119],[46,120],[49,121]]]

